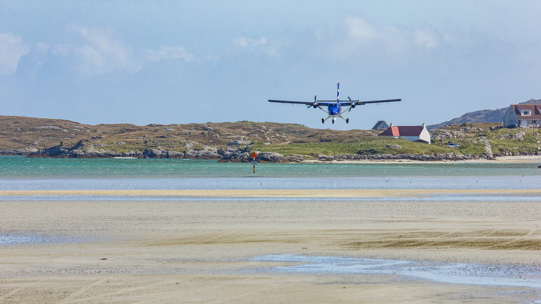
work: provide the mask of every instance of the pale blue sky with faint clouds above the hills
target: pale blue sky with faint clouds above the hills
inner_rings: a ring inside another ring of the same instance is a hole
[[[432,125],[541,99],[541,1],[0,0],[0,115]],[[340,97],[321,110],[269,103]]]

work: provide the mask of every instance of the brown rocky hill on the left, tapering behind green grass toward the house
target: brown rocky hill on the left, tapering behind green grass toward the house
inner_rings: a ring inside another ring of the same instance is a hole
[[[83,125],[0,115],[0,155],[34,157],[223,158],[253,143],[283,145],[375,136],[375,131],[310,129],[275,122]]]

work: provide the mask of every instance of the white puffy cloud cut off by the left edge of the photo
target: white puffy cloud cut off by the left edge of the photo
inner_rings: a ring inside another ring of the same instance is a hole
[[[13,74],[20,58],[30,53],[23,39],[10,33],[0,33],[0,75]]]

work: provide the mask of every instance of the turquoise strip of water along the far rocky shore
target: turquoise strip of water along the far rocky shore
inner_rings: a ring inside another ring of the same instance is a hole
[[[219,177],[520,177],[537,163],[218,163],[216,160],[0,156],[0,179]]]

